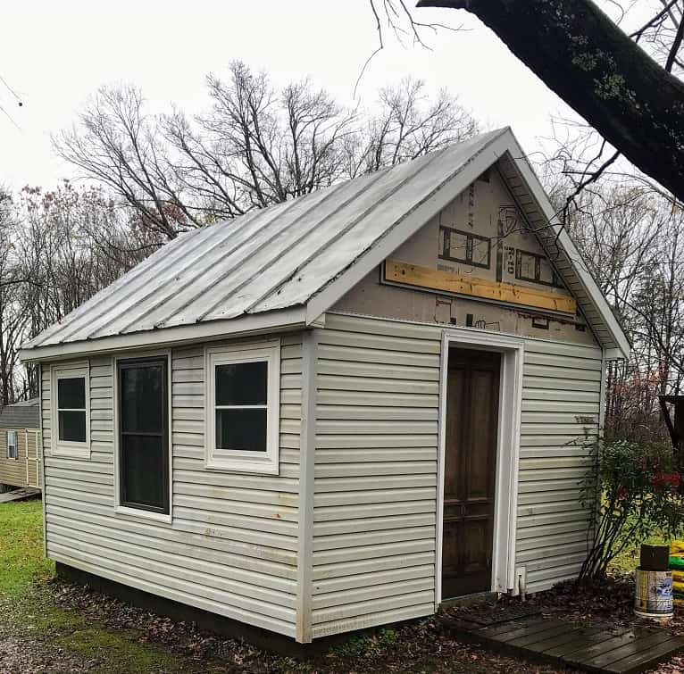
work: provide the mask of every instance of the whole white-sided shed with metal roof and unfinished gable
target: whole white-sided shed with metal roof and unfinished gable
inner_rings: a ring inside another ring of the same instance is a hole
[[[629,350],[510,129],[188,232],[24,346],[46,553],[300,643],[544,590]]]

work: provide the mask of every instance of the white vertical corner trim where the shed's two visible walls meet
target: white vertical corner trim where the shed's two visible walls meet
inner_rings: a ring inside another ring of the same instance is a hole
[[[299,509],[296,586],[296,640],[310,644],[313,595],[313,470],[316,449],[317,330],[302,335],[302,427],[299,435]]]

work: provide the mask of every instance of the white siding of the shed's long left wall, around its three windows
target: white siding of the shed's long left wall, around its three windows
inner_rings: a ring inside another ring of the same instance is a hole
[[[114,512],[113,360],[90,361],[89,461],[46,456],[48,556],[294,636],[301,337],[283,337],[278,477],[204,469],[204,355],[172,354],[172,524]],[[43,368],[50,452],[50,370]]]

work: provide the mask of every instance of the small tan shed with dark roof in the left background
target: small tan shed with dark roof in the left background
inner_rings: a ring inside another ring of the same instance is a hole
[[[40,487],[40,399],[0,409],[0,486]]]

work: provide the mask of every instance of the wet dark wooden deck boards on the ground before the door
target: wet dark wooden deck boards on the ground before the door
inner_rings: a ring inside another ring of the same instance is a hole
[[[632,674],[684,650],[684,637],[675,637],[666,628],[582,627],[539,613],[482,623],[459,616],[451,627],[458,636],[499,653],[566,669]]]

